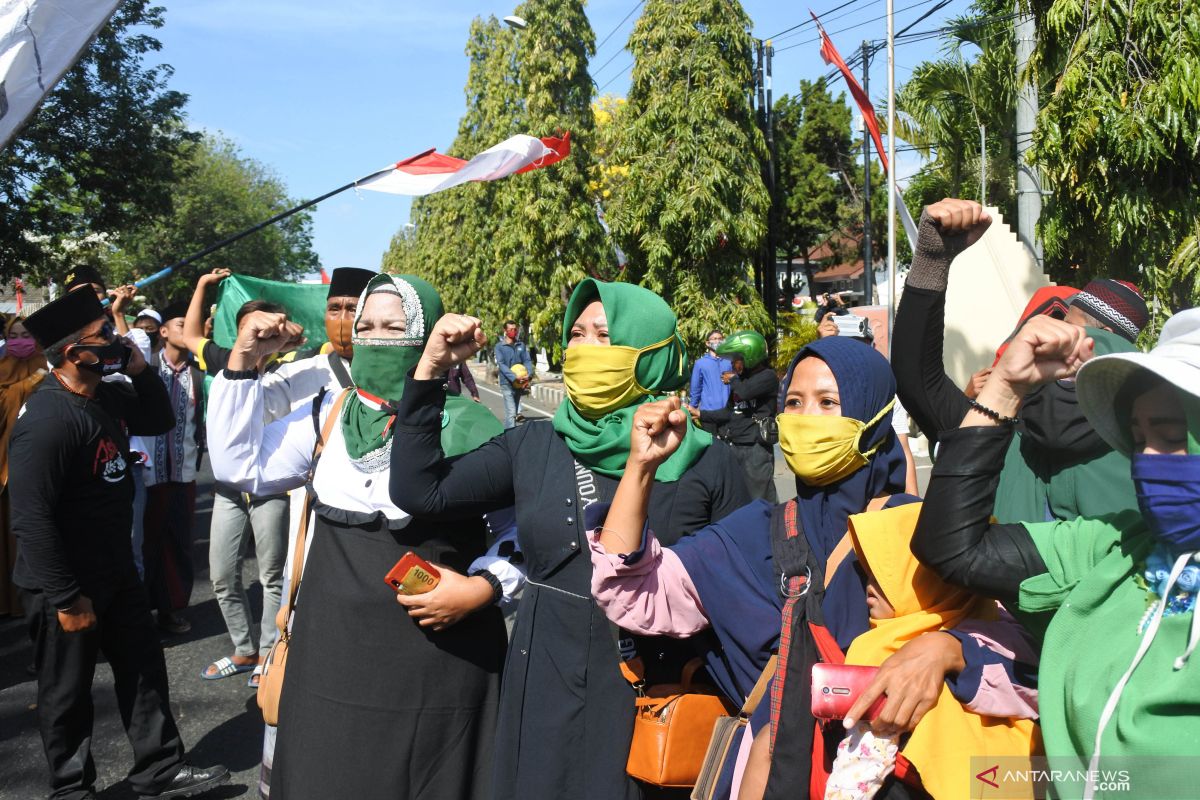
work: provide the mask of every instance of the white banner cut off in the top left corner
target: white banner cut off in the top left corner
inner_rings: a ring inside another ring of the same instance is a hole
[[[0,0],[0,149],[79,59],[119,0]]]

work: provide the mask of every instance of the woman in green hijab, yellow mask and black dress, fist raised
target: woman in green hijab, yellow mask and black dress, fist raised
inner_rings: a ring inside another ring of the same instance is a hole
[[[616,492],[635,409],[685,384],[674,314],[647,289],[583,281],[563,320],[568,401],[553,423],[527,422],[448,458],[438,437],[443,375],[484,343],[473,317],[451,314],[433,330],[404,384],[392,500],[421,516],[451,519],[516,506],[528,583],[505,663],[496,796],[638,798],[641,788],[625,775],[634,690],[618,668],[617,636],[592,599],[583,515]],[[656,480],[649,518],[672,543],[749,501],[728,446],[698,428],[688,431]],[[662,643],[622,637],[622,652],[636,649],[647,664],[648,682],[679,679],[684,658]],[[660,664],[666,667],[655,674]]]

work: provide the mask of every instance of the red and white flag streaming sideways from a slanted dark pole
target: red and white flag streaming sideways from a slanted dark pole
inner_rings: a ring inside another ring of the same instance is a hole
[[[514,173],[558,163],[571,152],[571,134],[538,139],[518,133],[470,161],[433,150],[406,158],[355,184],[355,188],[391,194],[433,194],[469,181],[494,181]]]

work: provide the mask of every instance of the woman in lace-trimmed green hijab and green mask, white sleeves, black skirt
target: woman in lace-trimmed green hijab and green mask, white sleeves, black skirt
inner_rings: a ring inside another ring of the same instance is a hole
[[[212,384],[212,471],[242,492],[272,494],[308,483],[311,548],[290,625],[287,680],[271,794],[287,800],[491,796],[492,750],[505,633],[491,582],[464,577],[485,551],[480,515],[446,525],[388,494],[392,402],[442,314],[437,291],[414,276],[380,275],[354,319],[356,389],[323,392],[270,425],[254,368],[294,331],[282,314],[256,312]],[[336,415],[336,416],[334,416]],[[319,431],[329,428],[319,458]],[[437,435],[461,453],[499,433],[486,409],[454,398]],[[406,553],[442,566],[422,597],[472,597],[456,624],[419,620],[384,576]]]

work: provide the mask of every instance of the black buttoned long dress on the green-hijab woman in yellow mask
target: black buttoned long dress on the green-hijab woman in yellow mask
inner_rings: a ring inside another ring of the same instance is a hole
[[[636,799],[641,790],[625,774],[634,692],[618,669],[612,627],[592,600],[575,458],[551,423],[539,421],[446,461],[439,440],[444,398],[444,381],[406,381],[391,498],[424,518],[516,506],[529,581],[505,662],[494,796]],[[590,477],[598,499],[611,500],[617,481]],[[728,446],[714,443],[683,477],[656,486],[650,525],[673,543],[748,501]]]

